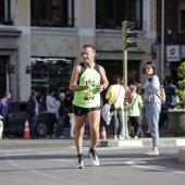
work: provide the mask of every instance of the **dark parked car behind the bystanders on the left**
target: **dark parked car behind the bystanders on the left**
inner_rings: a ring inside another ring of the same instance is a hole
[[[9,119],[9,135],[24,135],[25,121],[29,119],[26,114],[26,101],[10,102],[11,116]],[[39,104],[39,114],[36,126],[37,136],[46,136],[48,131],[48,112]]]

